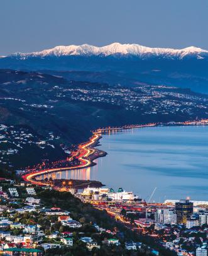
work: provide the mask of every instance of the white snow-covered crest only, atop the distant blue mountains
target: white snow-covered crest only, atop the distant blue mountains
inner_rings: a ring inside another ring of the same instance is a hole
[[[208,50],[203,50],[194,46],[184,49],[165,49],[165,48],[151,48],[138,44],[119,44],[114,43],[103,47],[96,47],[93,45],[68,45],[57,46],[52,49],[42,50],[40,52],[31,53],[15,53],[8,57],[50,57],[50,56],[69,56],[69,55],[84,55],[84,56],[109,56],[109,55],[133,55],[138,57],[161,56],[164,57],[178,57],[182,59],[187,55],[195,55],[197,59],[203,59],[203,55],[208,54]]]

